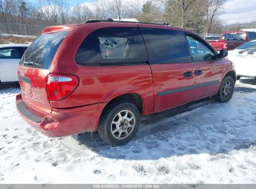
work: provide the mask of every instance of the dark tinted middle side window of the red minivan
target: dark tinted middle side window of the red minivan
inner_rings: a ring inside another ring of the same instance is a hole
[[[148,50],[149,63],[191,62],[183,32],[170,29],[140,28]]]

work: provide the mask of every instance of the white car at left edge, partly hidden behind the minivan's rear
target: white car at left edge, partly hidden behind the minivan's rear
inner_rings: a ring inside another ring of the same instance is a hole
[[[17,67],[27,44],[0,45],[0,85],[18,82]]]

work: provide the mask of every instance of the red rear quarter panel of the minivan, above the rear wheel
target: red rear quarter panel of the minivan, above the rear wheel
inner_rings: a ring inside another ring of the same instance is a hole
[[[52,107],[65,108],[110,101],[120,94],[140,94],[145,113],[153,111],[153,82],[149,65],[79,66],[77,89],[69,99],[50,102]]]

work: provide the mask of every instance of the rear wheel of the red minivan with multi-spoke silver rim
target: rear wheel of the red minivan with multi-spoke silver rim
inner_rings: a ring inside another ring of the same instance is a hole
[[[103,141],[118,146],[130,141],[139,126],[138,108],[128,101],[117,101],[103,111],[98,124],[98,134]]]

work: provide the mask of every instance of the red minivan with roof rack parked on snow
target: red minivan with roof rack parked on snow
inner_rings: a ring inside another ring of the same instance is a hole
[[[189,30],[162,24],[47,27],[21,59],[16,106],[46,136],[98,131],[121,145],[135,136],[140,116],[208,96],[229,101],[237,76],[226,55]]]

